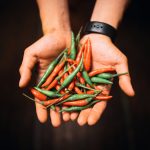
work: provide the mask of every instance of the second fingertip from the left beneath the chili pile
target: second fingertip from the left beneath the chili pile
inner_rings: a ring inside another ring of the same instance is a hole
[[[61,124],[61,118],[60,118],[60,113],[59,113],[59,107],[56,107],[56,110],[50,109],[50,118],[51,118],[51,123],[54,127],[58,127]]]

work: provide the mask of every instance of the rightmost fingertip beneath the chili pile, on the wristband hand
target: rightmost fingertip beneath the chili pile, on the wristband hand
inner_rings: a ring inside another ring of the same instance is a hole
[[[100,119],[105,107],[106,102],[104,101],[101,101],[94,105],[88,117],[88,125],[94,125]]]

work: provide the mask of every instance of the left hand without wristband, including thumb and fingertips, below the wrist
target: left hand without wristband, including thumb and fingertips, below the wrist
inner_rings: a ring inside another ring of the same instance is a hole
[[[66,47],[70,46],[71,32],[70,31],[54,31],[45,34],[37,42],[26,48],[23,56],[23,61],[20,67],[20,82],[19,86],[25,87],[29,83],[32,75],[32,69],[35,64],[38,64],[38,80],[42,77],[49,63],[55,59],[58,54]],[[57,111],[50,110],[50,118],[52,125],[57,127],[61,124],[60,114]],[[47,111],[42,105],[36,103],[36,113],[40,122],[47,120]],[[63,114],[65,121],[69,120],[69,113]]]

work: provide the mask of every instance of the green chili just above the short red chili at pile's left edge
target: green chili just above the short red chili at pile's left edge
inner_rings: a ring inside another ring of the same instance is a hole
[[[43,89],[40,89],[38,87],[34,87],[34,88],[36,90],[38,90],[39,92],[41,92],[42,94],[45,94],[48,97],[61,97],[62,96],[62,94],[57,94],[57,93],[52,92],[52,91],[43,90]]]

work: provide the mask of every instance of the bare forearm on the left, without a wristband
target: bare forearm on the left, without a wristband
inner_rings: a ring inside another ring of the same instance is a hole
[[[67,0],[37,0],[44,34],[70,30]]]

